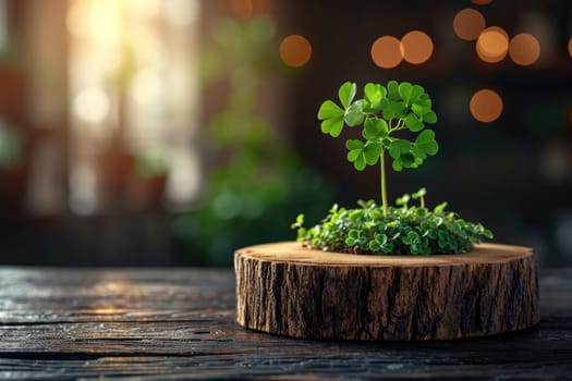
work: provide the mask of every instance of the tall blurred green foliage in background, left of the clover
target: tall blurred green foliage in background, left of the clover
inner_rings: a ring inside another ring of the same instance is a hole
[[[333,186],[307,168],[265,115],[261,87],[278,74],[276,24],[267,15],[224,20],[203,54],[202,79],[224,85],[224,106],[204,134],[207,176],[198,208],[179,214],[175,234],[194,265],[231,266],[240,247],[293,238],[300,210],[318,220]]]

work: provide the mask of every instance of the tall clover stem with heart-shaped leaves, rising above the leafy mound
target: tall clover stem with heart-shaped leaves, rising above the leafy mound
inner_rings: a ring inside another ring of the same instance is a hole
[[[437,122],[437,115],[431,110],[431,99],[425,89],[409,82],[400,84],[390,81],[387,87],[368,83],[364,86],[363,99],[355,99],[356,91],[355,83],[344,83],[338,91],[341,107],[326,100],[319,108],[318,119],[321,132],[332,137],[340,136],[344,125],[363,126],[363,139],[345,140],[348,160],[358,171],[379,163],[381,201],[387,216],[386,152],[397,172],[423,164],[427,156],[439,150],[435,132],[426,128],[426,124]],[[411,139],[395,136],[402,131],[417,135]]]

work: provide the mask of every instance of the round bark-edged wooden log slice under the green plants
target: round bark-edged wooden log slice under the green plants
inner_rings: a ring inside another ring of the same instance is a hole
[[[451,340],[523,330],[539,320],[527,247],[363,256],[290,242],[240,249],[234,268],[239,324],[281,335]]]

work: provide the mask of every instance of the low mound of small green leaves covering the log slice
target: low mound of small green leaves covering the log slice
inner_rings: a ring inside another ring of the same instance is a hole
[[[297,241],[311,248],[375,255],[460,254],[492,237],[480,223],[447,211],[447,202],[425,208],[425,194],[422,188],[403,195],[397,200],[401,207],[389,207],[387,214],[373,200],[358,201],[355,209],[334,205],[314,228],[304,228],[304,214],[292,228],[297,230]],[[411,198],[419,199],[419,206],[409,206]]]

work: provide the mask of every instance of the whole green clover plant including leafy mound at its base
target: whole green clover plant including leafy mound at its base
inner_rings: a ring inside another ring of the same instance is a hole
[[[425,188],[398,198],[395,207],[388,206],[386,160],[400,172],[436,155],[435,132],[426,126],[435,124],[437,115],[423,87],[407,82],[390,81],[387,87],[367,84],[363,99],[355,99],[356,91],[354,83],[344,83],[338,91],[341,106],[326,100],[318,119],[321,131],[332,137],[339,137],[345,125],[362,126],[361,139],[345,140],[348,160],[358,171],[380,165],[382,206],[375,201],[360,201],[356,209],[334,205],[311,229],[304,228],[304,214],[300,214],[292,224],[297,241],[311,248],[342,253],[430,255],[466,253],[491,238],[492,233],[480,223],[446,211],[447,202],[427,208]]]

